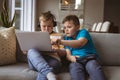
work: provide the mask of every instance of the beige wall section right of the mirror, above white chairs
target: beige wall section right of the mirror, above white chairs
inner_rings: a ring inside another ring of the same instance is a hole
[[[95,22],[104,18],[104,0],[85,0],[84,27],[91,28]]]

